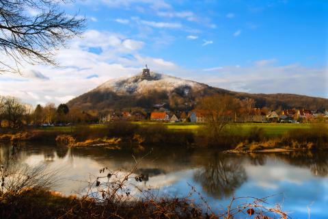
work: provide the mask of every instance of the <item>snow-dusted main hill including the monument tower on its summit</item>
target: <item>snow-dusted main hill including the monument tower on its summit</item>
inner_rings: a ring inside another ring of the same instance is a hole
[[[220,91],[229,92],[196,81],[150,73],[148,70],[144,68],[143,73],[133,77],[106,81],[94,90],[72,99],[68,105],[85,110],[109,110],[131,107],[150,109],[154,105],[164,104],[172,109],[190,110],[197,98]]]

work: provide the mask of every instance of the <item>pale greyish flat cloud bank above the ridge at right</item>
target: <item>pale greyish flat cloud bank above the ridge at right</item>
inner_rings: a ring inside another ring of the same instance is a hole
[[[211,86],[239,92],[283,92],[308,96],[325,96],[328,92],[328,75],[324,69],[308,68],[299,64],[272,66],[270,63],[273,63],[273,60],[255,62],[253,66],[248,67],[237,65],[207,68],[202,74],[190,73],[189,77]]]

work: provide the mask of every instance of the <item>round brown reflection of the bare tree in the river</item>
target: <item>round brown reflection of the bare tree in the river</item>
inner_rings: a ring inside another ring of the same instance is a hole
[[[194,179],[208,195],[226,198],[247,180],[241,159],[221,153],[206,158],[202,160],[203,168],[195,172]]]

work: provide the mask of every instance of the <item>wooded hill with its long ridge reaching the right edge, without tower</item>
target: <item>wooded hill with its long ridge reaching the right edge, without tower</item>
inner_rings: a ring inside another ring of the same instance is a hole
[[[141,107],[150,110],[154,105],[165,105],[171,110],[191,110],[197,100],[212,94],[232,94],[239,99],[251,98],[256,107],[271,109],[306,108],[327,109],[328,99],[298,94],[248,94],[213,88],[204,83],[151,73],[144,78],[135,75],[124,79],[112,79],[90,92],[68,102],[70,107],[83,110],[108,110]]]

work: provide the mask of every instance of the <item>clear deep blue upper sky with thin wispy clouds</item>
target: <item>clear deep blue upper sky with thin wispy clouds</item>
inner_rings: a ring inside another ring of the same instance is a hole
[[[250,66],[267,59],[327,64],[327,1],[103,2],[78,4],[81,14],[98,21],[88,28],[141,40],[141,54],[184,68]],[[202,46],[204,40],[213,43]]]

